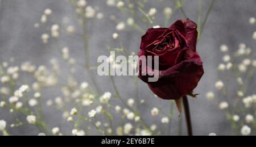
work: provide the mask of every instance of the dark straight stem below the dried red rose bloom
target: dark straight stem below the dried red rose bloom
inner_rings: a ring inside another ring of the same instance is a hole
[[[186,117],[187,128],[188,128],[188,136],[193,136],[191,115],[190,115],[190,111],[189,111],[189,103],[188,103],[187,95],[183,97],[183,105],[184,105],[185,117]]]

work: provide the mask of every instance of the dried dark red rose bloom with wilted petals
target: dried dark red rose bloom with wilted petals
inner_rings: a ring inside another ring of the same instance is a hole
[[[150,75],[142,75],[142,62],[139,62],[139,78],[159,98],[177,100],[191,95],[196,88],[204,74],[203,62],[196,51],[197,34],[196,23],[184,19],[169,28],[150,28],[142,36],[139,57],[159,56],[159,80],[148,82]]]

